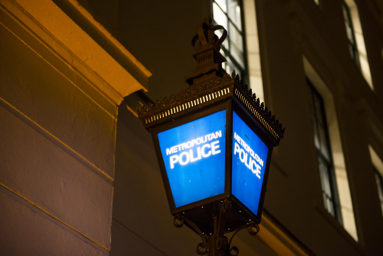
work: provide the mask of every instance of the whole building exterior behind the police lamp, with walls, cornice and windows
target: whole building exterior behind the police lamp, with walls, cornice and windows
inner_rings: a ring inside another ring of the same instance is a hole
[[[232,244],[383,254],[380,1],[0,0],[0,11],[0,254],[196,255],[134,109],[187,87],[196,25],[217,12],[240,32],[227,67],[286,127],[260,232]]]

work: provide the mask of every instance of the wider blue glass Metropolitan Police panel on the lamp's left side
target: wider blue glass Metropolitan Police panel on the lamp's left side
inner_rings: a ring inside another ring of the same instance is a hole
[[[175,207],[224,193],[226,110],[157,136]]]

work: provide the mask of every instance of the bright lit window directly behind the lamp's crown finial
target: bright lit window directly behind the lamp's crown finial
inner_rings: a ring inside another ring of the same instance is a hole
[[[228,30],[228,38],[221,45],[221,53],[227,60],[222,63],[223,68],[228,74],[234,69],[247,80],[241,0],[213,0],[213,23]],[[222,35],[221,31],[215,33],[218,37]]]

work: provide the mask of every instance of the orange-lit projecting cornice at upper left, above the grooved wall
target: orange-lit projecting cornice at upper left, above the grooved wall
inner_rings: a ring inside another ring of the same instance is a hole
[[[64,63],[82,74],[93,88],[118,106],[125,96],[143,89],[147,91],[147,79],[152,74],[124,48],[100,23],[94,20],[75,0],[70,3],[82,18],[87,19],[100,34],[109,40],[130,61],[135,70],[121,66],[108,51],[89,36],[64,11],[51,0],[0,0],[0,4],[21,23],[29,33]],[[140,82],[141,83],[140,83]]]

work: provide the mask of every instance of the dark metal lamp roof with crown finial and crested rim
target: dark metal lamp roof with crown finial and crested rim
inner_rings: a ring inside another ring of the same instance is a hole
[[[215,30],[223,30],[221,38],[214,35]],[[137,109],[138,117],[144,127],[150,131],[152,127],[176,118],[198,111],[202,107],[234,97],[244,109],[258,121],[259,125],[272,137],[274,144],[278,145],[283,138],[285,128],[275,119],[275,116],[260,102],[252,89],[247,88],[233,70],[231,76],[222,68],[226,59],[219,53],[220,45],[227,36],[223,26],[213,25],[211,18],[198,25],[197,34],[191,43],[197,53],[193,57],[197,61],[196,70],[186,76],[189,87],[178,91],[177,95],[164,97],[148,107]]]

